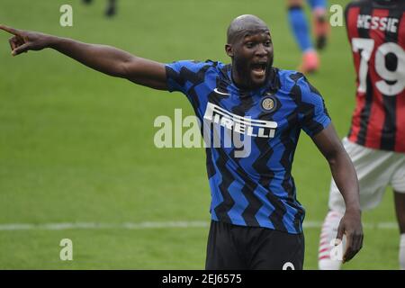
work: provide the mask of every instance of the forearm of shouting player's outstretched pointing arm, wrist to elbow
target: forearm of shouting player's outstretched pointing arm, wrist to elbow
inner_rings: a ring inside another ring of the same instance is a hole
[[[130,53],[111,46],[88,44],[56,36],[49,36],[48,43],[49,48],[110,76],[125,77],[124,65],[133,58]]]

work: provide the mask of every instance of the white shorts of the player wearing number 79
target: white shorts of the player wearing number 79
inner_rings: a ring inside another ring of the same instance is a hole
[[[405,193],[405,153],[366,148],[347,138],[342,143],[356,168],[362,210],[376,207],[389,185],[394,191]],[[333,179],[329,191],[329,209],[345,212],[345,202]]]

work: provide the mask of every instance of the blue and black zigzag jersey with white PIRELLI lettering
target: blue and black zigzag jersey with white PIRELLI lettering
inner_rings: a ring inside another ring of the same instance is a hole
[[[210,60],[168,64],[166,76],[202,123],[211,219],[301,233],[305,211],[291,171],[300,131],[312,137],[329,125],[318,91],[301,73],[275,67],[265,85],[244,91],[230,65]]]

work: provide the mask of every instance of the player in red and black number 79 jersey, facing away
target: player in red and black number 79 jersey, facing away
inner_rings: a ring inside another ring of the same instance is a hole
[[[394,191],[405,269],[405,1],[365,0],[346,9],[356,68],[356,109],[343,144],[360,184],[362,210],[376,207],[387,186]],[[339,269],[330,257],[345,204],[332,180],[329,213],[320,235],[320,269]]]

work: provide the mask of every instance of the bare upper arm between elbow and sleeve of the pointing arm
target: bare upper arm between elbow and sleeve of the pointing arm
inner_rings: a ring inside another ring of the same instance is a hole
[[[167,90],[165,64],[146,58],[131,58],[123,64],[124,77],[133,83]]]

